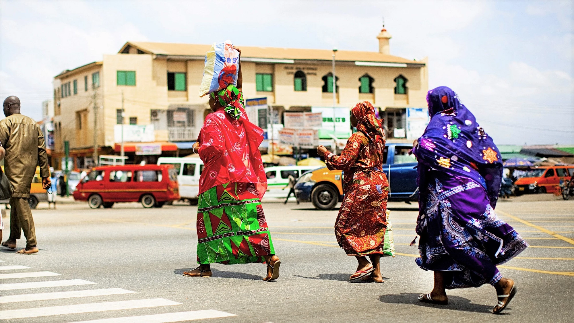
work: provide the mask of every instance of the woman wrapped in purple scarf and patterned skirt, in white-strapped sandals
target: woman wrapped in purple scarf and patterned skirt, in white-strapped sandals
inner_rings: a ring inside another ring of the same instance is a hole
[[[517,287],[496,265],[528,247],[494,213],[502,178],[500,152],[454,91],[437,87],[426,101],[430,122],[413,145],[420,187],[416,263],[435,271],[435,287],[418,299],[445,305],[445,289],[490,283],[498,295],[492,313],[500,313]]]

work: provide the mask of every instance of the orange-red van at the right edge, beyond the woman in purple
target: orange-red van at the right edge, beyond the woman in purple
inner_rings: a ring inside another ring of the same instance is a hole
[[[560,180],[568,180],[574,175],[574,165],[541,166],[526,171],[514,183],[516,195],[524,193],[554,193]]]

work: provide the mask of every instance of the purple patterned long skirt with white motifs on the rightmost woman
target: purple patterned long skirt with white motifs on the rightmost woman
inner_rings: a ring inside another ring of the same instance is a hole
[[[447,289],[494,285],[496,267],[528,244],[490,206],[486,190],[469,178],[431,171],[416,263],[424,270],[450,271]],[[422,202],[422,201],[421,201]]]

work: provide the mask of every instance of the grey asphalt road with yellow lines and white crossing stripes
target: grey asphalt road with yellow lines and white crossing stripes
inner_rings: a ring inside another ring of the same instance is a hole
[[[16,255],[0,248],[0,321],[156,314],[165,314],[159,316],[163,321],[235,314],[204,319],[209,322],[573,320],[574,201],[499,202],[499,215],[531,245],[500,266],[519,286],[501,316],[490,314],[496,303],[490,285],[448,291],[447,306],[417,301],[432,289],[432,272],[416,266],[417,249],[408,245],[415,234],[415,205],[389,203],[397,256],[381,260],[382,284],[347,281],[356,261],[336,244],[336,210],[294,202],[265,202],[263,209],[282,260],[280,279],[270,283],[261,280],[263,264],[214,264],[212,278],[181,275],[197,266],[195,206],[144,209],[123,203],[91,210],[86,203],[66,203],[48,210],[40,203],[33,211],[40,252]],[[9,217],[3,220],[9,223]],[[22,247],[25,241],[19,240]],[[38,272],[43,273],[26,274]],[[40,287],[46,284],[71,286]],[[22,294],[41,295],[16,296]],[[191,313],[169,314],[180,312]]]

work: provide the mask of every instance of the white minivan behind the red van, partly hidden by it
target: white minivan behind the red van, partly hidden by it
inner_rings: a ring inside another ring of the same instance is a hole
[[[199,193],[199,176],[203,172],[203,161],[199,157],[160,157],[158,165],[173,165],[177,172],[177,182],[181,201],[197,202]]]

